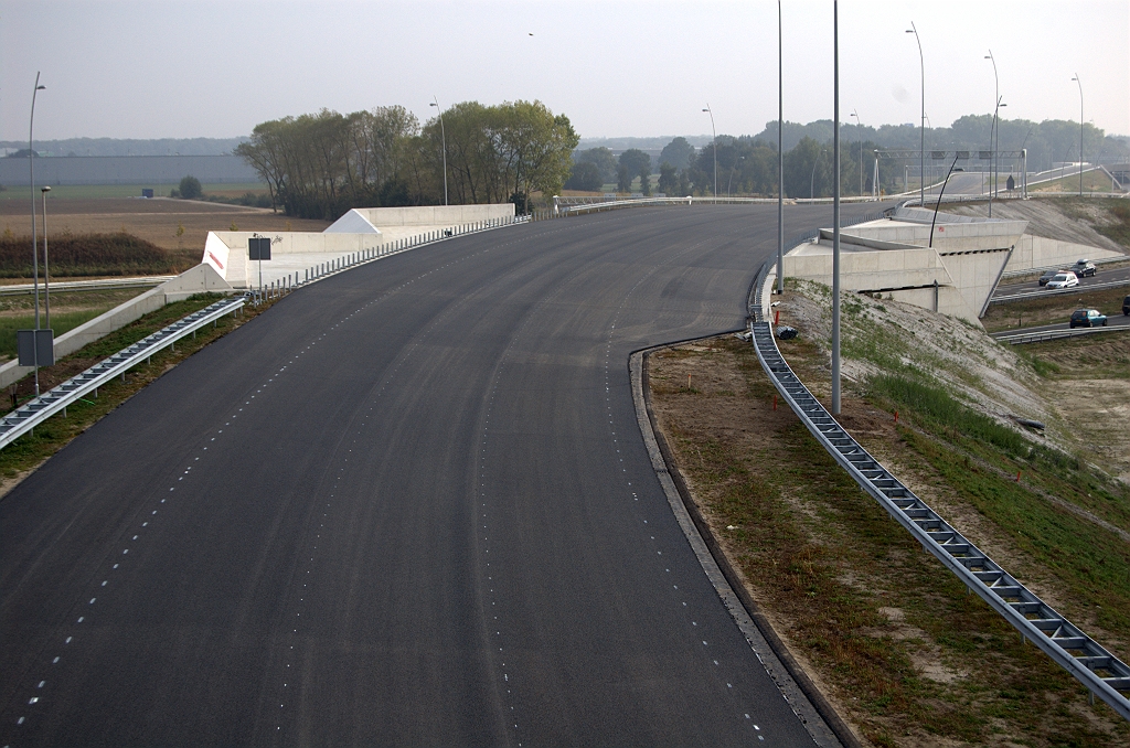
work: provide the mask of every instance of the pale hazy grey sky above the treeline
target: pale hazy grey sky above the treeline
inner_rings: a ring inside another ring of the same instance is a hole
[[[831,0],[784,1],[784,116],[832,118]],[[0,0],[0,139],[249,134],[266,120],[540,99],[582,137],[759,132],[776,119],[777,3]],[[992,111],[1130,134],[1130,2],[840,2],[841,119],[936,127]],[[531,36],[532,34],[532,36]]]

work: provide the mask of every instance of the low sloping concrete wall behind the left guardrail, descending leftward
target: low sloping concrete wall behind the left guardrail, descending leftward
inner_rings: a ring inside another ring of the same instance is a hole
[[[127,324],[139,320],[149,312],[156,312],[165,304],[184,301],[189,296],[203,293],[229,294],[232,287],[208,264],[198,264],[191,270],[185,270],[176,278],[168,280],[156,288],[119,304],[105,314],[94,318],[89,322],[64,332],[55,338],[55,358],[62,358],[87,343],[99,340],[115,330],[124,328]],[[10,360],[0,366],[0,388],[18,382],[32,373],[33,367],[20,366],[16,360]]]

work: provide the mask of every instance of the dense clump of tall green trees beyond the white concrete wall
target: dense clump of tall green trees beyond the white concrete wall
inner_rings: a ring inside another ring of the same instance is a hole
[[[235,153],[288,216],[337,218],[350,208],[514,201],[556,194],[579,142],[540,102],[464,102],[423,127],[402,106],[287,116],[255,127]],[[446,143],[446,150],[444,149]]]

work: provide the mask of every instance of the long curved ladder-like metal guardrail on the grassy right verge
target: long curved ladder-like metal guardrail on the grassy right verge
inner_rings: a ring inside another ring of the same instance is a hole
[[[812,436],[863,490],[902,524],[968,589],[1060,667],[1130,720],[1130,666],[1057,612],[962,536],[860,446],[793,373],[763,320],[762,287],[770,263],[758,271],[749,304],[749,330],[757,358],[781,397]]]

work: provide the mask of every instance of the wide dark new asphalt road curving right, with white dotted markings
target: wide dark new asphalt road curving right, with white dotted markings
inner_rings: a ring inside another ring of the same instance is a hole
[[[774,206],[459,237],[169,371],[0,501],[0,746],[810,743],[627,366],[741,328],[775,237]]]

